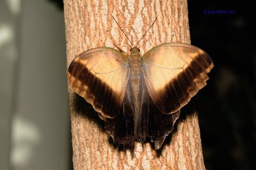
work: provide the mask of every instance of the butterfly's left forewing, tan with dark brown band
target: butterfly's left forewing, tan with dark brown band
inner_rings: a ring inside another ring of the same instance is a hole
[[[69,86],[108,118],[118,114],[127,88],[127,56],[109,47],[86,50],[68,67]]]

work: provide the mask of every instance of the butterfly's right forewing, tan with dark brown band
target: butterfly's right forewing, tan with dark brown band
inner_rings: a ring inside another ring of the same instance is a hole
[[[209,79],[211,58],[193,45],[164,43],[143,56],[143,75],[154,104],[164,114],[188,104]]]

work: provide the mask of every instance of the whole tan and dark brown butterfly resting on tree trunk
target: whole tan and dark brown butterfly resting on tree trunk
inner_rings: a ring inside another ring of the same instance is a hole
[[[68,67],[68,84],[99,112],[115,143],[149,139],[159,150],[214,64],[204,50],[185,43],[163,43],[143,56],[136,46],[129,55],[110,47],[82,52]]]

